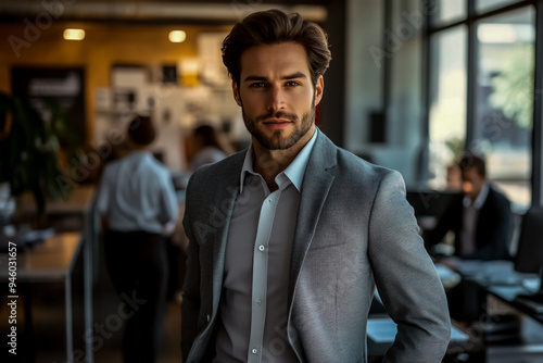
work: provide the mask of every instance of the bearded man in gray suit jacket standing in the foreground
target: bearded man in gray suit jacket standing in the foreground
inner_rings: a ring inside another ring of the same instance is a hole
[[[386,362],[441,362],[445,295],[397,172],[315,127],[327,37],[272,10],[223,43],[251,146],[187,188],[185,362],[366,362],[377,286],[397,335]]]

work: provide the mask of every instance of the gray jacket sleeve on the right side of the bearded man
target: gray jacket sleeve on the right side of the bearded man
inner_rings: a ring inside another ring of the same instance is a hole
[[[381,300],[397,324],[383,362],[441,362],[451,337],[446,298],[397,172],[379,185],[368,253]]]

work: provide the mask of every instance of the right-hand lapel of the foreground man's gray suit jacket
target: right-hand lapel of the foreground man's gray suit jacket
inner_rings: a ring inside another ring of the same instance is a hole
[[[289,306],[292,303],[298,276],[313,240],[323,205],[334,179],[330,168],[336,165],[337,147],[320,130],[317,129],[317,140],[313,147],[302,183],[302,195],[290,262]]]

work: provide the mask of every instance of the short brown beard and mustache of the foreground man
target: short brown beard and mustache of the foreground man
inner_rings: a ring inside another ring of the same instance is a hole
[[[298,116],[292,113],[287,113],[282,111],[269,112],[265,115],[256,116],[251,118],[245,114],[243,107],[241,107],[241,114],[243,116],[243,122],[249,133],[266,149],[268,150],[286,150],[294,146],[313,126],[315,122],[315,107],[312,103],[311,110],[302,115],[300,122]],[[267,137],[266,133],[262,132],[257,125],[267,118],[286,118],[293,122],[294,130],[288,135],[282,136],[285,130],[277,129],[273,130],[272,137]]]

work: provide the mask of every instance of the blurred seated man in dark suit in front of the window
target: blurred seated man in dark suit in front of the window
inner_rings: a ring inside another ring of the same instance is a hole
[[[427,246],[439,243],[449,230],[453,230],[456,256],[509,259],[509,200],[488,180],[484,159],[467,153],[458,166],[464,199],[452,203],[435,228],[426,233]]]

